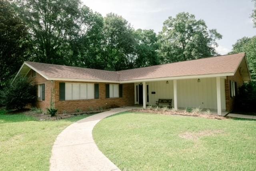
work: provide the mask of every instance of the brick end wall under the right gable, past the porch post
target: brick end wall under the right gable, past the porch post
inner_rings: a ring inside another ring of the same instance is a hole
[[[226,111],[232,111],[234,107],[234,97],[230,97],[230,80],[236,82],[237,90],[243,85],[243,79],[239,70],[236,71],[234,76],[227,76],[225,79]]]

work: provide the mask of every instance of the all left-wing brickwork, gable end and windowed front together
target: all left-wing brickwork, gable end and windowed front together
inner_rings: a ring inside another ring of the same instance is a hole
[[[28,73],[32,77],[32,70]],[[33,77],[35,85],[45,84],[45,100],[37,100],[36,107],[46,111],[50,107],[51,100],[58,113],[63,111],[74,112],[76,109],[86,111],[90,108],[98,107],[111,107],[111,106],[128,106],[134,105],[134,83],[123,84],[123,97],[106,98],[106,84],[99,84],[99,99],[86,99],[86,100],[59,100],[59,83],[60,81],[46,80],[40,74],[36,73]],[[70,82],[69,82],[70,83]],[[71,83],[90,83],[90,82],[71,82]],[[91,82],[92,83],[92,82]],[[96,83],[95,83],[96,84]],[[38,91],[38,90],[37,90]],[[37,92],[38,93],[38,92]]]

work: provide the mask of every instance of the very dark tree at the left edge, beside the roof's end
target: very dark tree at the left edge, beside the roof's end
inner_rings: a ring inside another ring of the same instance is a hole
[[[28,59],[27,28],[12,4],[0,0],[0,88]]]

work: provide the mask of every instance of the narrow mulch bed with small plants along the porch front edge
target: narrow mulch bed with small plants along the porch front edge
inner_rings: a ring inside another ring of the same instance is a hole
[[[213,114],[206,114],[206,113],[190,113],[186,111],[163,111],[163,110],[154,110],[154,109],[132,109],[133,112],[144,112],[144,113],[155,113],[160,115],[182,115],[182,116],[194,116],[194,117],[204,117],[209,119],[227,119],[223,116],[213,115]]]

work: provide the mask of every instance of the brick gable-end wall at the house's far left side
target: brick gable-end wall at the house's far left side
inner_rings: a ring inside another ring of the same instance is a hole
[[[36,107],[37,108],[41,108],[43,111],[47,111],[47,108],[50,107],[50,101],[51,101],[51,95],[52,98],[54,99],[54,94],[51,93],[51,91],[53,91],[54,88],[54,81],[49,81],[46,80],[44,77],[42,77],[40,74],[36,73],[35,77],[32,77],[32,72],[33,70],[30,70],[30,72],[28,73],[28,77],[31,77],[33,79],[33,83],[34,85],[39,85],[39,84],[44,84],[44,100],[37,100],[36,101]],[[38,94],[38,89],[37,92]]]

